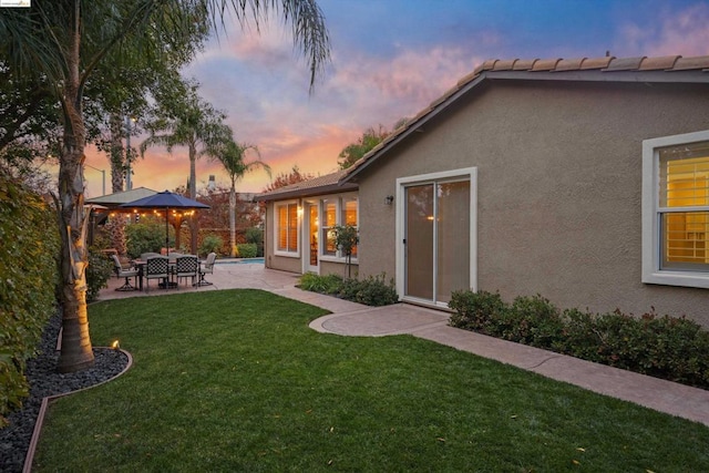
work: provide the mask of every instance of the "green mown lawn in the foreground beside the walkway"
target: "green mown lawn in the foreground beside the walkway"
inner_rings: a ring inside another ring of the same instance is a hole
[[[709,471],[709,429],[258,290],[90,307],[133,368],[52,404],[43,471]]]

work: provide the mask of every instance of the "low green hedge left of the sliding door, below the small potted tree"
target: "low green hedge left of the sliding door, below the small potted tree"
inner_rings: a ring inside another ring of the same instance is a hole
[[[338,275],[318,276],[308,273],[300,277],[298,287],[304,290],[332,295],[367,306],[388,306],[399,301],[393,279],[387,284],[384,282],[384,275],[369,276],[359,280],[354,278],[345,279]]]

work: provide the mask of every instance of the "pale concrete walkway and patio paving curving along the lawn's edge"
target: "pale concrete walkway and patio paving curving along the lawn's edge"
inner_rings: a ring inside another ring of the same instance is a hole
[[[709,426],[709,391],[452,328],[448,326],[448,313],[438,310],[405,304],[372,308],[304,291],[295,287],[298,275],[265,269],[259,264],[220,261],[215,266],[214,275],[207,277],[212,286],[183,286],[177,291],[119,292],[114,288],[123,281],[112,278],[109,289],[101,292],[101,299],[233,288],[264,289],[332,312],[310,323],[320,332],[353,337],[408,333]]]

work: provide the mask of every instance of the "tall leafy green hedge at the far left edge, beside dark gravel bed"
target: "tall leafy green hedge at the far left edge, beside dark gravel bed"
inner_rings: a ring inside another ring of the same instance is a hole
[[[0,168],[0,428],[22,405],[27,360],[56,310],[56,216]]]

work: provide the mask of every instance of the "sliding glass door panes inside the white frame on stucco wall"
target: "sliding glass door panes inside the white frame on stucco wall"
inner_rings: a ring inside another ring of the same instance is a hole
[[[448,304],[470,288],[470,181],[405,187],[405,296]]]

